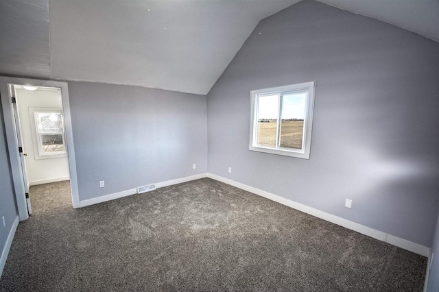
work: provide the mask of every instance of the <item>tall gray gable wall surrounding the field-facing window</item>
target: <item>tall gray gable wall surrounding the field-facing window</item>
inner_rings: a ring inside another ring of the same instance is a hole
[[[431,247],[438,64],[437,42],[316,1],[263,19],[208,94],[209,173]],[[311,159],[249,151],[250,90],[312,80]]]

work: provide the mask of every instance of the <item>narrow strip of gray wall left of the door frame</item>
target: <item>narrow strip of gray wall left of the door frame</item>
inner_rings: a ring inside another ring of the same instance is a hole
[[[0,255],[5,247],[6,239],[8,239],[9,232],[12,228],[12,223],[18,215],[14,191],[12,191],[12,176],[6,147],[3,110],[0,104]],[[3,228],[3,223],[1,222],[2,216],[5,217],[5,228]]]

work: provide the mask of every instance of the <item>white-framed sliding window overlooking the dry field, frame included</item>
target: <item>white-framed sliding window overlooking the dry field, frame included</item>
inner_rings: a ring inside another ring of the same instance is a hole
[[[309,159],[315,84],[252,90],[249,149]]]

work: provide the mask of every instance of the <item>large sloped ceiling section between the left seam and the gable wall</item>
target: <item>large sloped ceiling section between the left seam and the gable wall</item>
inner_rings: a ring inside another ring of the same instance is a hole
[[[52,75],[206,94],[257,23],[296,2],[50,1]]]

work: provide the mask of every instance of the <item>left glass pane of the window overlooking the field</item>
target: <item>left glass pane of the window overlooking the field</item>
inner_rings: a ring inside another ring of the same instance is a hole
[[[257,145],[276,147],[279,96],[259,97]]]

